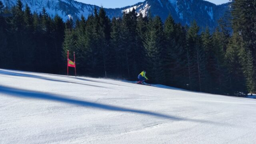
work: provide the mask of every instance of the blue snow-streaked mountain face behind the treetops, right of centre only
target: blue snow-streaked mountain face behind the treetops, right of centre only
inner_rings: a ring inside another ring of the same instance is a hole
[[[190,25],[196,20],[199,26],[215,28],[218,20],[228,11],[228,5],[216,5],[204,0],[146,0],[125,11],[135,8],[137,12],[147,14],[150,10],[152,16],[158,15],[162,20],[171,14],[176,22],[183,25]]]

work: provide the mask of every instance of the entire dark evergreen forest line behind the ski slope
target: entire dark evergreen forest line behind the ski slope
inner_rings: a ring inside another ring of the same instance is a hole
[[[64,74],[70,50],[79,75],[136,80],[146,70],[151,83],[245,96],[256,93],[256,3],[235,0],[230,8],[231,18],[210,32],[135,10],[110,20],[95,8],[64,22],[20,0],[12,8],[0,1],[0,14],[12,14],[0,16],[0,67]]]

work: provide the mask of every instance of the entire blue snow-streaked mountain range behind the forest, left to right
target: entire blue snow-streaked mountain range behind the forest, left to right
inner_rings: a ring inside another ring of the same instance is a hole
[[[58,14],[64,20],[72,16],[74,19],[80,18],[81,15],[87,17],[93,13],[94,5],[76,2],[75,0],[21,0],[22,3],[28,4],[32,12],[40,12],[43,7],[47,12],[54,16]],[[16,0],[3,0],[8,7],[16,4]],[[96,6],[99,9],[99,6]],[[122,16],[123,12],[129,12],[132,9],[142,13],[144,16],[151,13],[152,16],[158,15],[165,20],[169,14],[172,15],[176,22],[183,25],[190,24],[196,20],[199,26],[217,26],[218,19],[228,10],[228,3],[222,5],[212,4],[204,0],[145,0],[133,6],[124,8],[106,8],[106,13],[110,18]]]

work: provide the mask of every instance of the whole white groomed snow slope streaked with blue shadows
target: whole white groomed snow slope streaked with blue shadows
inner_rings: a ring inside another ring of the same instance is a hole
[[[0,69],[0,144],[255,144],[256,100]]]

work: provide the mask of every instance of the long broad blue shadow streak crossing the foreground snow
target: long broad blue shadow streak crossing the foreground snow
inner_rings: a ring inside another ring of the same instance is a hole
[[[227,125],[219,122],[211,122],[206,120],[196,120],[190,118],[180,118],[177,116],[171,116],[166,114],[161,114],[157,112],[150,112],[146,110],[136,110],[131,108],[124,108],[119,106],[111,106],[107,104],[100,104],[96,102],[89,102],[84,100],[75,100],[70,98],[65,98],[65,96],[58,96],[50,93],[42,93],[30,90],[21,90],[17,88],[11,88],[6,86],[0,86],[0,94],[7,94],[10,96],[20,97],[20,98],[33,98],[33,99],[42,99],[42,100],[51,100],[55,102],[62,102],[66,104],[74,104],[77,106],[83,106],[88,108],[96,108],[96,109],[103,109],[103,110],[111,110],[111,111],[120,111],[120,112],[131,112],[135,114],[144,114],[148,116],[155,116],[159,118],[170,119],[174,121],[182,120],[182,121],[190,121],[190,122],[199,122],[199,123],[206,123],[206,124],[218,124],[218,125]]]

